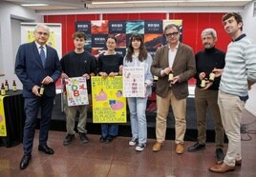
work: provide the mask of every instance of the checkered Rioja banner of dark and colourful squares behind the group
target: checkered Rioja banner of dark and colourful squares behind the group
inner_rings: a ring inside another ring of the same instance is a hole
[[[115,35],[116,49],[121,50],[119,53],[125,56],[133,33],[139,33],[142,36],[147,50],[156,50],[165,45],[167,42],[163,30],[168,24],[176,24],[180,27],[180,41],[182,42],[182,20],[77,21],[75,30],[85,32],[85,49],[96,57],[106,50],[106,37],[109,34]]]

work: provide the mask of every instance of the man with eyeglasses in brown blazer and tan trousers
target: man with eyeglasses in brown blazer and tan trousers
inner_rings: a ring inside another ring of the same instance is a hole
[[[184,152],[183,140],[186,130],[186,98],[188,80],[196,73],[195,56],[193,49],[182,44],[179,26],[170,24],[164,29],[167,45],[157,49],[151,71],[158,76],[157,82],[157,142],[153,151],[160,151],[165,140],[166,121],[169,107],[173,109],[175,117],[175,151],[177,154]],[[169,74],[173,77],[169,79]]]

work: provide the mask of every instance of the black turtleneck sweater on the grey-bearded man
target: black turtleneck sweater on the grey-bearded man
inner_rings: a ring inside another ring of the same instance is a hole
[[[216,48],[212,49],[203,49],[199,51],[195,58],[196,58],[196,68],[197,73],[195,78],[197,79],[197,87],[200,87],[201,80],[199,79],[199,74],[201,72],[205,72],[206,78],[209,78],[210,72],[216,69],[224,69],[224,51]],[[220,86],[221,77],[215,78],[213,85],[209,89],[218,90]]]

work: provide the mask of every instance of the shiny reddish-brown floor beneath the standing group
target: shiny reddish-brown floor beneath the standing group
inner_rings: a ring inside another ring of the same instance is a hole
[[[46,155],[37,150],[38,130],[36,130],[32,161],[25,170],[19,169],[23,155],[22,144],[15,147],[0,147],[0,176],[85,176],[85,177],[206,177],[256,176],[256,118],[245,111],[243,118],[242,142],[243,165],[235,171],[215,174],[208,167],[215,163],[215,146],[207,143],[206,149],[177,155],[174,141],[166,140],[160,152],[153,152],[154,139],[149,139],[147,147],[137,152],[129,147],[129,137],[118,136],[111,144],[99,143],[99,135],[89,134],[90,142],[81,144],[76,135],[75,142],[64,147],[64,131],[50,131],[49,146],[55,153]],[[249,140],[251,138],[251,140]],[[194,142],[186,141],[185,148]],[[225,144],[224,151],[227,144]]]

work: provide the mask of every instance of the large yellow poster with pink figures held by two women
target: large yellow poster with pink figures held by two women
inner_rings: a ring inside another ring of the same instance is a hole
[[[93,123],[126,123],[122,76],[92,77]]]

